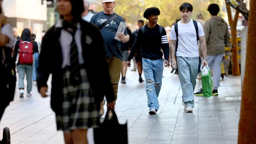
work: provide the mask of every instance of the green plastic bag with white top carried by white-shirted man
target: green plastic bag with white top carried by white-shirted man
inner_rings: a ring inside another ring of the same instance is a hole
[[[204,97],[211,97],[213,82],[211,78],[211,71],[208,65],[203,66],[201,70],[201,75],[202,75],[202,88],[203,88]]]

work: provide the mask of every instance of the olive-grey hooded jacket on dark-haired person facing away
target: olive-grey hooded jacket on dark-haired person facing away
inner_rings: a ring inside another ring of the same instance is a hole
[[[230,39],[228,25],[221,17],[211,17],[204,24],[204,37],[207,55],[224,54],[225,44]]]

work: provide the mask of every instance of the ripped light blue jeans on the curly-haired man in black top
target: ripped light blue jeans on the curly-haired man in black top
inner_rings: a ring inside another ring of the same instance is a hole
[[[142,58],[143,72],[146,79],[146,93],[149,109],[159,109],[158,95],[163,76],[163,59],[150,60]]]

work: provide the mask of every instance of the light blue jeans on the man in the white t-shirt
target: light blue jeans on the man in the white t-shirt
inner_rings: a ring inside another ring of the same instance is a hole
[[[194,90],[197,84],[198,57],[177,57],[180,85],[182,88],[182,101],[187,106],[194,107]]]

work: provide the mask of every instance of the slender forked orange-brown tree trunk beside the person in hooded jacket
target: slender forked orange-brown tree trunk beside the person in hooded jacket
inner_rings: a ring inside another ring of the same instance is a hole
[[[236,11],[234,20],[232,18],[232,13],[230,5],[226,4],[226,9],[228,13],[228,22],[231,31],[231,44],[232,44],[232,74],[233,76],[240,75],[239,61],[238,61],[238,50],[237,50],[237,33],[236,33],[236,24],[239,16],[239,11]]]

